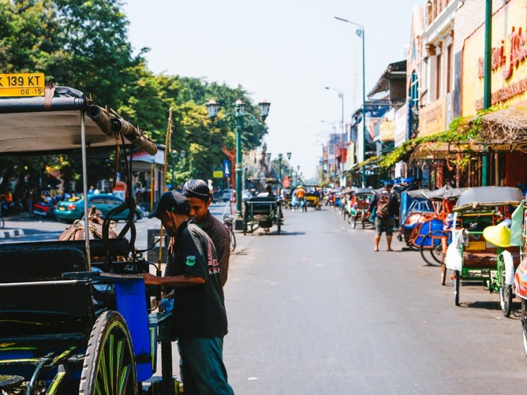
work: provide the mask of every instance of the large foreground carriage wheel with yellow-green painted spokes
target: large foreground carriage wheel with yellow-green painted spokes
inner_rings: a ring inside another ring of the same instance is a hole
[[[122,315],[105,311],[89,335],[80,394],[137,395],[137,375],[130,332]]]

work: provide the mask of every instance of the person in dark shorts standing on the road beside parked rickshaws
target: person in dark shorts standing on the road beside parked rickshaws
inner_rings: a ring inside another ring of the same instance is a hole
[[[392,192],[392,184],[386,182],[383,191],[380,194],[375,194],[368,208],[368,213],[373,213],[376,210],[377,217],[375,219],[375,247],[373,251],[379,251],[380,237],[383,232],[386,233],[387,251],[392,250],[392,234],[395,222],[393,218],[397,216],[399,211],[399,201],[397,195]]]

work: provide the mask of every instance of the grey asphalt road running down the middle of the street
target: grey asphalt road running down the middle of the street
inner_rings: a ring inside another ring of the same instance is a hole
[[[527,388],[517,315],[419,252],[373,252],[337,212],[285,211],[243,239],[225,285],[224,360],[237,394],[509,394]],[[516,303],[515,308],[519,308]]]

